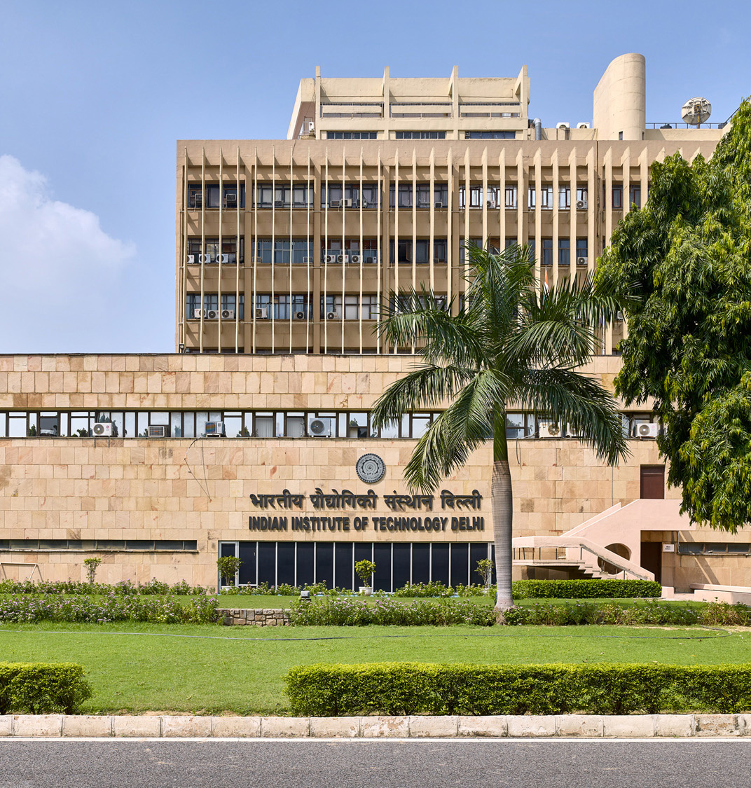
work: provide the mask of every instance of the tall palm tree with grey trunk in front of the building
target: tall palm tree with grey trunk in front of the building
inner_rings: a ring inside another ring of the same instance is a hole
[[[467,255],[458,309],[425,288],[392,294],[377,331],[395,347],[420,348],[422,363],[381,395],[373,420],[380,429],[408,411],[448,403],[405,468],[413,492],[432,492],[474,449],[493,440],[496,610],[503,611],[514,604],[507,407],[570,424],[608,464],[625,457],[615,400],[578,369],[593,355],[597,326],[620,305],[597,290],[592,277],[541,289],[527,247],[493,254],[469,245]]]

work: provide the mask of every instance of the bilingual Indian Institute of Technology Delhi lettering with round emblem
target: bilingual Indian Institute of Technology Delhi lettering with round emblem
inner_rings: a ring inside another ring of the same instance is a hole
[[[362,455],[357,463],[357,472],[362,481],[374,484],[380,481],[385,474],[383,460],[377,455]],[[314,515],[300,513],[299,515],[273,514],[276,511],[290,511],[302,509],[305,501],[316,511]],[[378,496],[373,489],[368,489],[364,494],[356,494],[350,490],[341,492],[332,489],[323,492],[320,487],[308,496],[304,492],[290,492],[288,489],[280,493],[264,493],[255,495],[251,493],[251,504],[258,509],[268,512],[263,515],[250,515],[248,528],[251,531],[292,531],[299,535],[308,533],[335,533],[367,531],[374,532],[411,532],[411,533],[441,533],[452,531],[484,531],[485,518],[469,514],[470,511],[481,510],[482,496],[478,490],[473,490],[470,495],[456,495],[450,490],[441,490],[438,500],[441,502],[441,514],[437,515],[412,515],[415,511],[433,511],[433,504],[437,504],[433,495],[405,495],[394,490],[392,495],[383,496],[383,503],[391,515],[374,515],[378,507]],[[343,510],[362,511],[359,515],[341,514],[331,515],[329,511]],[[318,514],[321,512],[321,514]],[[467,512],[467,514],[462,514]]]

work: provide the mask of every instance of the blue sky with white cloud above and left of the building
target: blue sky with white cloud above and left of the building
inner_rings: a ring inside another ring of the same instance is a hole
[[[709,13],[708,13],[708,9]],[[712,14],[711,9],[717,9]],[[591,120],[641,52],[647,120],[751,93],[751,4],[16,2],[0,49],[0,352],[174,349],[176,139],[284,138],[299,79],[516,76]]]

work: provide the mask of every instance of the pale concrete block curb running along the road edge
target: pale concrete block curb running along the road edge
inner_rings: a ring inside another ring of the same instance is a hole
[[[4,715],[14,738],[751,737],[751,714],[626,716],[203,717]]]

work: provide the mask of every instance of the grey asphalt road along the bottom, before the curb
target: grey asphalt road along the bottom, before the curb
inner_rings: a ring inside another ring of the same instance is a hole
[[[751,739],[0,742],[2,788],[749,788],[749,785]]]

